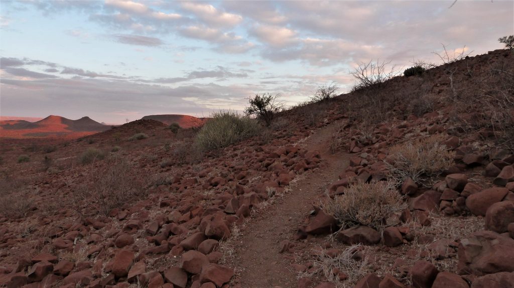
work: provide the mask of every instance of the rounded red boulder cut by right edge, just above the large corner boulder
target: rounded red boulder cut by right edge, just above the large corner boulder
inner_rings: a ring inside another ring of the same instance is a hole
[[[492,204],[485,213],[485,229],[498,233],[507,232],[508,224],[514,222],[514,202],[502,201]]]

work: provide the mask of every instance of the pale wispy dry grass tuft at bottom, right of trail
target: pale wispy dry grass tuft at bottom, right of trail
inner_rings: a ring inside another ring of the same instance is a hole
[[[315,251],[316,258],[313,260],[313,269],[300,274],[300,277],[310,277],[313,274],[324,276],[329,282],[335,283],[338,287],[353,287],[357,281],[368,273],[368,258],[359,259],[358,253],[362,250],[361,244],[348,246],[339,255],[332,258],[319,248]],[[360,254],[360,253],[359,253]],[[339,270],[348,276],[341,282],[334,271]]]

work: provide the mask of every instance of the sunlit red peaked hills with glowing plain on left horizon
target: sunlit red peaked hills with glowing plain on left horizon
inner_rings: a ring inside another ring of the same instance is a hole
[[[102,125],[89,117],[70,120],[61,116],[50,115],[36,122],[25,120],[0,121],[0,137],[9,138],[75,138],[95,134],[108,129],[111,129],[111,127]]]

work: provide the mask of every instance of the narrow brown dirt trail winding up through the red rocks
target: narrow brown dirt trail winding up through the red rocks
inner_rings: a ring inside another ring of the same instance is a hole
[[[296,287],[297,274],[289,270],[288,260],[279,254],[280,242],[295,235],[318,196],[346,168],[348,154],[329,151],[337,128],[336,123],[323,127],[304,142],[309,150],[320,152],[320,168],[292,184],[288,194],[242,229],[235,246],[234,265],[241,269],[243,288]]]

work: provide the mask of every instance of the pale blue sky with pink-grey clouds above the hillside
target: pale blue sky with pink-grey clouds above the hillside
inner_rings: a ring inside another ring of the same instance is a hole
[[[514,34],[514,1],[0,1],[0,116],[120,124],[305,101],[379,59],[484,54]],[[403,70],[401,70],[403,71]]]

